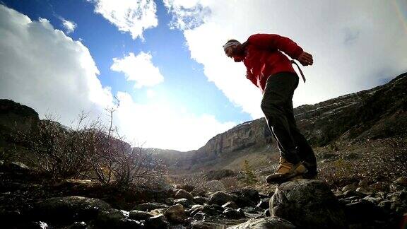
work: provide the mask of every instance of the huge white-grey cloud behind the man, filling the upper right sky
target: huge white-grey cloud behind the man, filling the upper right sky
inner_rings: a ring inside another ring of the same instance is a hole
[[[165,0],[175,16],[171,26],[184,29],[191,57],[225,95],[257,118],[261,93],[245,77],[244,65],[223,53],[235,38],[254,33],[290,37],[314,56],[303,67],[294,105],[312,104],[338,95],[372,88],[385,78],[407,71],[407,30],[396,4],[387,1],[216,1]],[[396,1],[400,6],[401,1]],[[199,7],[198,7],[199,6]],[[204,13],[195,12],[199,8]],[[192,22],[191,11],[195,18]],[[295,67],[296,68],[296,67]]]

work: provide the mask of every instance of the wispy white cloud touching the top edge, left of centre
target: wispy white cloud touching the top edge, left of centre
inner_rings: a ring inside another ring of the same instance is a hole
[[[131,37],[143,39],[143,30],[158,25],[157,6],[153,0],[88,0],[95,3],[95,12]]]

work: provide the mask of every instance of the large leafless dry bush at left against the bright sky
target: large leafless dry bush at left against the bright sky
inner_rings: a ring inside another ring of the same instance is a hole
[[[37,131],[18,134],[16,141],[28,148],[35,168],[52,180],[86,178],[117,187],[147,186],[162,182],[165,166],[143,148],[131,148],[110,120],[88,120],[82,113],[75,127],[63,127],[47,117]],[[157,185],[156,185],[157,186]]]

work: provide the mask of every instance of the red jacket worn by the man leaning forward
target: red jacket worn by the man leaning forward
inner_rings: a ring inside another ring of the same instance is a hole
[[[247,78],[263,93],[269,76],[282,71],[295,73],[290,59],[302,53],[302,48],[293,40],[276,34],[255,34],[247,39],[243,63],[247,69]]]

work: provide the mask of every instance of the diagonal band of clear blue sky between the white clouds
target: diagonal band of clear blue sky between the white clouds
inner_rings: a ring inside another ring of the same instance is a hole
[[[170,29],[172,16],[167,13],[163,2],[156,1],[158,27],[143,33],[144,40],[133,40],[129,33],[122,33],[100,14],[93,13],[95,6],[87,1],[3,1],[3,3],[29,16],[32,20],[47,18],[54,28],[65,30],[59,17],[75,22],[78,26],[69,34],[88,47],[100,71],[102,86],[112,87],[112,93],[125,91],[135,102],[148,100],[146,90],[160,90],[175,106],[184,105],[195,114],[213,114],[220,122],[246,122],[252,117],[235,107],[208,82],[202,65],[192,60],[186,47],[182,31]],[[150,52],[152,62],[158,66],[165,81],[153,88],[134,90],[132,83],[119,72],[111,71],[112,59],[128,52]],[[219,49],[222,52],[222,49]]]

